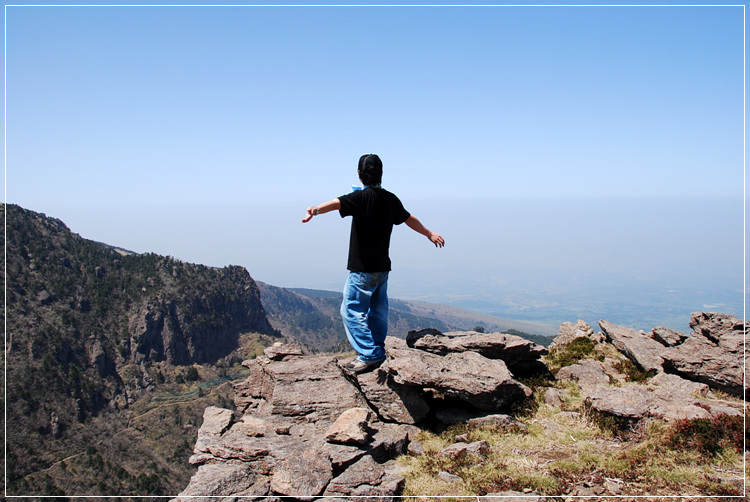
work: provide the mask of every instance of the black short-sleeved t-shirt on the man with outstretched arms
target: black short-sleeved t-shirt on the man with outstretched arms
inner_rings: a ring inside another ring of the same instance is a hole
[[[352,216],[349,262],[352,272],[389,272],[393,225],[409,219],[409,212],[394,194],[380,187],[365,187],[339,197],[341,217]]]

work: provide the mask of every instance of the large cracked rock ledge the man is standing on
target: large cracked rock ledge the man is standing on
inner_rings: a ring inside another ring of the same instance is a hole
[[[439,340],[443,335],[433,331],[431,336],[451,347],[463,339],[477,351],[454,348],[438,354],[389,337],[388,359],[360,375],[346,372],[345,361],[336,356],[301,356],[283,345],[245,361],[250,376],[235,384],[236,412],[205,411],[190,459],[198,471],[179,498],[388,500],[403,486],[394,459],[409,451],[420,430],[414,424],[439,420],[444,410],[458,406],[476,423],[523,426],[497,413],[531,395],[515,380],[498,347],[521,354],[541,354],[543,348],[532,342],[524,347],[500,334],[494,344],[492,335],[482,335],[479,345],[472,334]],[[480,350],[497,357],[485,357]],[[416,443],[413,447],[418,448]],[[478,453],[487,447],[467,446]]]

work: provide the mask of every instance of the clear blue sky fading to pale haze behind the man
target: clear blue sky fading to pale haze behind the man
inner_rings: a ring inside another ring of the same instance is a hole
[[[528,240],[545,215],[516,228],[493,202],[731,199],[714,221],[743,232],[741,6],[5,13],[6,201],[87,238],[343,284],[347,224],[299,219],[349,191],[367,152],[407,209],[452,232],[442,255],[403,232],[406,269],[512,268],[467,240]],[[684,230],[686,214],[662,226]],[[581,221],[553,230],[593,239]],[[620,227],[634,241],[637,223]],[[683,261],[741,280],[742,242]],[[554,268],[548,244],[536,264]]]

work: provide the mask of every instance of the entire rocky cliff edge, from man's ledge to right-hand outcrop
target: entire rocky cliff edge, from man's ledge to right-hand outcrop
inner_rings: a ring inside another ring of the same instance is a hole
[[[693,314],[689,336],[606,321],[600,327],[594,333],[583,321],[565,323],[550,349],[580,338],[617,349],[619,360],[583,359],[556,371],[558,380],[578,383],[591,413],[625,421],[743,413],[736,400],[708,392],[744,394],[741,320]],[[523,429],[504,414],[532,395],[518,378],[547,371],[547,349],[507,334],[422,330],[386,345],[386,362],[361,375],[343,369],[351,357],[302,356],[293,345],[277,344],[245,361],[250,376],[235,385],[236,411],[205,411],[190,460],[198,471],[178,500],[398,497],[405,478],[395,459],[421,453],[420,427],[466,422]],[[644,375],[642,384],[627,381],[625,359]],[[545,390],[548,405],[564,399],[560,389]],[[452,448],[481,454],[490,447]]]

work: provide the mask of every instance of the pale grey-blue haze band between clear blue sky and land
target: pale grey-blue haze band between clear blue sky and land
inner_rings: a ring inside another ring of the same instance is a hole
[[[446,247],[435,249],[406,226],[395,227],[389,285],[395,298],[518,320],[582,318],[596,325],[606,319],[637,329],[687,331],[689,314],[700,310],[743,316],[742,199],[413,205]],[[274,286],[340,291],[350,221],[334,213],[303,225],[300,209],[279,202],[96,213],[60,208],[48,215],[84,238],[138,253],[240,265]],[[482,233],[466,225],[471,215],[487,214],[501,216],[485,222]]]

